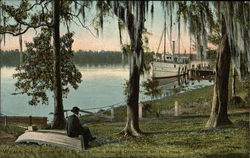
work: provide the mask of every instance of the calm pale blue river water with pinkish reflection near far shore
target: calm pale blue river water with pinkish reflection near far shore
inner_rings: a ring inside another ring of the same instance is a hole
[[[77,66],[82,73],[82,83],[77,90],[71,89],[67,98],[64,98],[64,109],[71,109],[73,106],[78,106],[81,109],[89,109],[94,107],[102,107],[125,101],[123,94],[123,84],[128,79],[128,66],[122,65],[97,65],[97,66]],[[15,82],[12,75],[15,73],[14,67],[2,67],[1,69],[1,113],[5,115],[16,116],[43,116],[48,115],[54,110],[53,93],[49,92],[49,105],[38,105],[30,107],[28,101],[31,99],[27,95],[11,95],[15,92]],[[142,77],[142,80],[148,76]],[[209,81],[186,81],[186,85],[181,92],[195,89],[197,87],[211,85]],[[170,82],[170,84],[162,85],[164,89],[163,96],[171,95],[169,88],[177,87],[178,80]],[[184,85],[184,84],[182,84]],[[186,87],[186,88],[185,88]],[[143,89],[141,89],[143,93]],[[145,101],[150,99],[143,94],[140,95],[140,100]]]

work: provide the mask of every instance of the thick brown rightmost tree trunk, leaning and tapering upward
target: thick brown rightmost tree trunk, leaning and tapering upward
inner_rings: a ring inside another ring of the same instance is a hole
[[[231,52],[225,23],[222,24],[222,37],[222,42],[217,55],[212,110],[206,128],[215,128],[232,124],[227,114]]]

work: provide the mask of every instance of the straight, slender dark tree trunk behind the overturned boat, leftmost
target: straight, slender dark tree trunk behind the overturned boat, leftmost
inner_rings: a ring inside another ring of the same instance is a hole
[[[60,53],[60,0],[53,2],[53,38],[54,38],[54,120],[53,128],[63,129],[65,126],[61,83]]]

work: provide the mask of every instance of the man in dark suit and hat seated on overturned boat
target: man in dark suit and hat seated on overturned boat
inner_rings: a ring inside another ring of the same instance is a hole
[[[78,118],[80,109],[78,107],[73,107],[71,112],[74,114],[69,116],[66,130],[67,135],[69,137],[77,137],[78,135],[82,135],[84,138],[84,147],[85,149],[88,148],[89,141],[92,141],[95,139],[90,133],[90,130],[88,127],[83,127],[80,123],[80,120]]]

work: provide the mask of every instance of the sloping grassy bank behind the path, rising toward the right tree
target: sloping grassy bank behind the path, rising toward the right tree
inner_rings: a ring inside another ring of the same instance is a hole
[[[242,87],[242,86],[238,86]],[[237,89],[239,89],[237,87]],[[240,90],[238,90],[239,92]],[[229,112],[250,107],[250,101],[246,100],[244,105],[234,105],[229,93]],[[247,98],[247,89],[241,89],[237,95]],[[245,97],[244,97],[245,96]],[[210,114],[213,97],[213,86],[203,87],[190,92],[176,94],[163,99],[148,101],[143,103],[143,117],[146,119],[169,118],[174,116],[175,102],[178,102],[181,116],[207,116]],[[126,106],[115,109],[115,119],[126,119]]]

